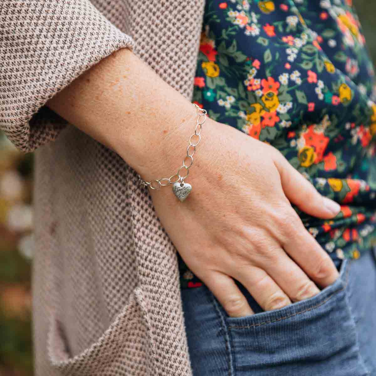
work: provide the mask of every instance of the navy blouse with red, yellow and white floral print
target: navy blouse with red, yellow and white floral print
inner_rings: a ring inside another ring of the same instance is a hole
[[[376,240],[374,82],[352,0],[206,1],[193,102],[341,204],[332,220],[294,206],[335,262]],[[201,286],[178,260],[181,288]]]

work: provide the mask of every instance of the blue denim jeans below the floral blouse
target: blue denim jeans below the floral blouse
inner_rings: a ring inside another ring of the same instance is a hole
[[[205,286],[182,289],[194,376],[376,376],[376,249],[338,265],[316,296],[229,317]]]

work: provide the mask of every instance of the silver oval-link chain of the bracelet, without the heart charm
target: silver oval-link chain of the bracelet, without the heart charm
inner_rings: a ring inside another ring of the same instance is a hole
[[[180,180],[180,182],[183,182],[183,180],[188,176],[189,169],[190,169],[190,167],[193,164],[193,155],[196,152],[196,146],[201,141],[202,124],[205,123],[206,114],[207,114],[207,112],[206,112],[205,109],[200,108],[199,106],[196,105],[196,103],[192,103],[192,104],[197,108],[197,111],[199,112],[199,114],[197,116],[196,127],[194,128],[194,133],[193,133],[193,135],[191,135],[191,137],[189,139],[189,145],[188,145],[187,150],[186,150],[186,156],[183,159],[183,164],[178,168],[177,173],[175,175],[171,175],[169,178],[164,177],[162,179],[153,179],[153,180],[150,180],[150,182],[146,182],[138,174],[138,179],[141,182],[141,184],[143,184],[144,186],[149,186],[150,189],[158,190],[158,189],[161,188],[161,186],[167,186],[167,185],[170,185],[170,184],[174,184],[174,183],[177,183],[179,180]],[[203,121],[202,122],[200,122],[200,118],[201,117],[203,117]],[[192,142],[192,138],[194,136],[196,136],[196,137],[198,136],[198,141],[196,143]],[[190,148],[191,148],[191,154],[190,154]],[[190,164],[188,166],[185,164],[185,159],[186,158],[190,159]],[[180,175],[180,170],[182,168],[185,168],[185,176],[181,176]],[[173,179],[174,177],[177,177],[177,179],[174,180],[174,181],[171,181],[171,179]],[[153,185],[156,185],[156,186],[153,186]]]

